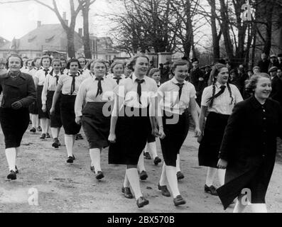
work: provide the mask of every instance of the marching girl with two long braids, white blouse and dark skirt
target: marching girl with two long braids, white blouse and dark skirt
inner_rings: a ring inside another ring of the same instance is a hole
[[[218,172],[219,183],[224,184],[224,170],[217,171],[218,154],[222,143],[227,120],[232,113],[235,104],[242,101],[239,89],[228,83],[228,68],[223,64],[216,64],[211,72],[213,84],[206,87],[202,93],[200,129],[203,131],[204,120],[205,131],[198,138],[199,165],[207,167],[207,178],[205,182],[205,192],[217,196],[216,188],[212,185],[215,174]]]

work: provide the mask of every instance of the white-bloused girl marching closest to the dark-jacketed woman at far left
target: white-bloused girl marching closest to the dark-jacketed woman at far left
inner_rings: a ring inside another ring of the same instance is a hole
[[[37,89],[37,101],[38,101],[38,117],[40,119],[40,125],[42,127],[42,134],[40,139],[50,138],[48,133],[50,128],[50,119],[47,112],[43,112],[42,110],[42,90],[45,82],[45,78],[48,73],[52,71],[52,67],[50,66],[52,62],[51,57],[48,55],[44,55],[41,57],[41,65],[42,69],[38,70],[35,75],[35,84]]]

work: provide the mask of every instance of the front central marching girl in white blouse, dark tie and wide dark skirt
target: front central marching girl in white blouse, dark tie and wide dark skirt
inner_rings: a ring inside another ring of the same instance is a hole
[[[148,62],[145,55],[135,56],[131,61],[134,73],[114,90],[116,99],[109,134],[109,164],[126,165],[121,192],[126,198],[133,198],[131,186],[138,207],[149,203],[141,193],[137,163],[151,131],[149,100],[158,89],[156,82],[146,77]]]

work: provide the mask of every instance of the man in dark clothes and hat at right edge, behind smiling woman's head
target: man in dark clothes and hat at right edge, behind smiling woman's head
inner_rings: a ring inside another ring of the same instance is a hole
[[[269,69],[272,86],[270,97],[282,105],[282,80],[278,77],[277,70],[278,68],[276,66],[273,66]]]

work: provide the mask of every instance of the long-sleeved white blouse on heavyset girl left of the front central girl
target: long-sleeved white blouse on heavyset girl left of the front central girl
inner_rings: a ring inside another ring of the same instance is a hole
[[[82,105],[87,102],[107,102],[114,100],[113,90],[116,87],[114,80],[104,77],[101,80],[103,92],[97,95],[98,82],[94,76],[82,82],[75,98],[75,116],[82,116]]]

